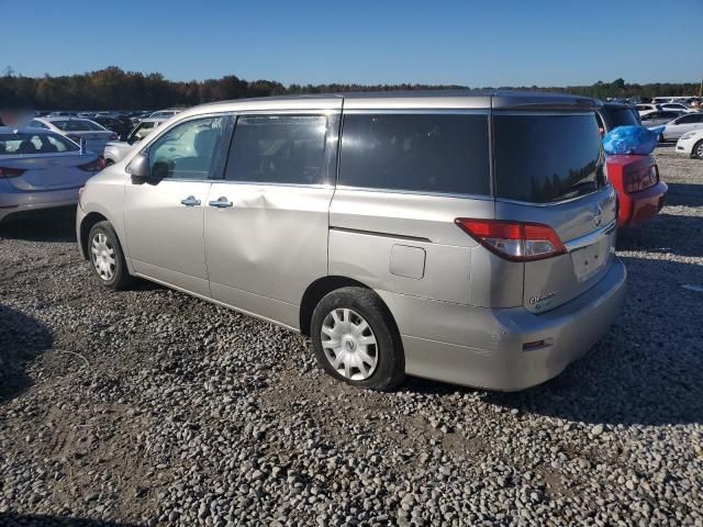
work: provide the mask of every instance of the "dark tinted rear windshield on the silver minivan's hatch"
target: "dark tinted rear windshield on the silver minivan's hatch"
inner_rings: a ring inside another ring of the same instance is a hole
[[[595,114],[494,115],[495,195],[553,203],[606,184]]]

